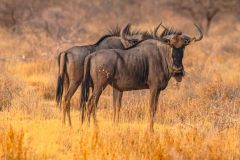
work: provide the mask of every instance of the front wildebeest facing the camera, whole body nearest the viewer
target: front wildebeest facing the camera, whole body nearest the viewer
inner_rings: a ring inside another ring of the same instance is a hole
[[[82,99],[85,102],[88,100],[90,81],[94,86],[87,104],[88,121],[92,114],[96,124],[97,103],[108,84],[119,92],[150,89],[150,131],[153,131],[160,91],[167,87],[171,77],[179,82],[182,80],[184,49],[203,37],[200,28],[195,26],[200,32],[198,38],[165,28],[158,40],[144,40],[127,49],[100,50],[87,56],[82,85]]]

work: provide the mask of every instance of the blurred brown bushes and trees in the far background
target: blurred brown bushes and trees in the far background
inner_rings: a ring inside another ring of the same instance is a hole
[[[1,0],[0,3],[1,27],[17,34],[26,27],[34,33],[44,31],[58,41],[84,41],[89,33],[90,37],[99,36],[104,28],[127,22],[143,25],[163,21],[181,29],[189,27],[186,23],[196,22],[207,34],[211,33],[212,25],[229,18],[239,21],[240,13],[239,0]],[[91,26],[98,28],[92,30]]]

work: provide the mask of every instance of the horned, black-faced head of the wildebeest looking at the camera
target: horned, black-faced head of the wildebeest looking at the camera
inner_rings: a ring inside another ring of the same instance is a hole
[[[172,70],[173,70],[172,74],[178,82],[182,80],[182,77],[184,76],[185,73],[182,64],[185,47],[191,44],[192,42],[200,41],[203,38],[203,34],[200,28],[196,24],[194,25],[196,26],[197,30],[200,33],[200,36],[198,38],[190,37],[188,35],[183,34],[182,32],[176,32],[173,31],[171,28],[169,29],[164,26],[163,26],[164,31],[162,32],[159,38],[159,40],[168,44],[172,48]],[[159,28],[159,26],[157,27],[157,29]],[[154,32],[154,35],[155,37],[157,37],[156,32]]]

